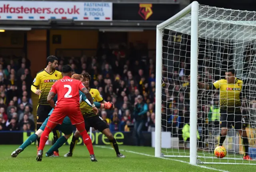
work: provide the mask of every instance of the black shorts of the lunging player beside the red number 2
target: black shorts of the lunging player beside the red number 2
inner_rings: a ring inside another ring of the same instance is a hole
[[[90,131],[90,127],[93,127],[95,130],[102,132],[108,128],[108,124],[99,116],[85,117],[84,116],[85,129],[87,132]]]

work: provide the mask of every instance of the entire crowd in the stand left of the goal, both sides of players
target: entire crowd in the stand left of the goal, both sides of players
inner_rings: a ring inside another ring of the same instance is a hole
[[[110,129],[129,132],[135,128],[140,136],[142,131],[154,130],[155,59],[132,44],[121,49],[111,50],[104,44],[96,56],[59,56],[57,70],[61,72],[62,66],[69,64],[73,73],[89,72],[90,87],[98,89],[104,100],[115,106],[113,110],[100,112]],[[35,128],[29,68],[30,61],[26,58],[17,61],[0,58],[0,130]]]

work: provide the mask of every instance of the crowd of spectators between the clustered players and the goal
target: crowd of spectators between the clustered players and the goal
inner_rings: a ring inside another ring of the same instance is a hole
[[[138,137],[142,131],[154,130],[154,58],[142,55],[133,46],[126,50],[111,50],[102,45],[94,57],[60,56],[58,59],[60,71],[64,64],[69,64],[73,73],[91,74],[90,88],[98,89],[104,100],[114,104],[114,110],[100,112],[110,130],[129,132],[134,129],[138,131]]]

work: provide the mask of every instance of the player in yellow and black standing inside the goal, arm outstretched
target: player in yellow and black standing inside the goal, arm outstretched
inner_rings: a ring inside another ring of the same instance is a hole
[[[226,79],[217,80],[212,84],[198,82],[198,88],[206,90],[220,90],[220,142],[222,146],[228,128],[234,126],[238,130],[244,144],[244,160],[252,160],[248,155],[249,142],[246,134],[246,124],[242,116],[242,98],[245,97],[242,91],[243,81],[235,77],[235,70],[229,69],[226,72]]]

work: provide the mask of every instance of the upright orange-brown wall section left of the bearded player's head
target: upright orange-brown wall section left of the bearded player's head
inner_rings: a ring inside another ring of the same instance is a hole
[[[31,75],[46,67],[46,30],[30,30],[27,32],[27,57],[31,62]]]

